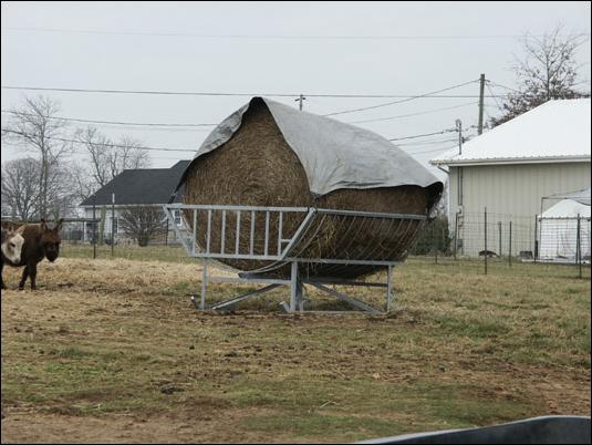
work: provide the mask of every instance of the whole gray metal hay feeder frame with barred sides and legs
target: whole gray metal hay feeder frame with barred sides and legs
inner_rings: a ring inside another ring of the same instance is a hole
[[[258,297],[280,286],[290,288],[290,303],[282,302],[285,312],[305,311],[303,286],[310,284],[370,314],[386,313],[392,304],[393,267],[406,255],[409,240],[415,239],[427,220],[426,215],[384,214],[370,211],[336,210],[307,207],[258,207],[169,204],[163,206],[177,239],[190,257],[204,261],[200,300],[191,298],[200,310],[230,310],[241,301]],[[175,224],[174,211],[181,213],[185,224]],[[287,218],[298,217],[300,225],[285,229]],[[337,251],[319,255],[314,248],[315,238],[328,227],[340,227],[335,246],[343,246],[347,239],[355,239],[360,231],[374,234],[373,242],[364,248],[347,252]],[[345,227],[345,229],[343,229]],[[351,230],[350,230],[351,229]],[[401,234],[399,242],[381,242],[381,234]],[[214,236],[218,234],[219,236]],[[229,245],[228,235],[233,242]],[[238,271],[238,278],[210,275],[212,260],[247,260],[262,265],[253,270]],[[386,282],[365,282],[344,277],[359,277],[377,269],[386,269]],[[255,291],[211,306],[206,303],[209,282],[233,282],[267,284]],[[373,308],[346,296],[328,284],[385,288],[384,310]]]

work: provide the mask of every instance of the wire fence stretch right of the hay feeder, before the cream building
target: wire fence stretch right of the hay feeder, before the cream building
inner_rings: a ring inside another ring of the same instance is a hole
[[[457,268],[590,277],[589,216],[546,218],[484,211],[437,217],[420,234],[409,256]]]

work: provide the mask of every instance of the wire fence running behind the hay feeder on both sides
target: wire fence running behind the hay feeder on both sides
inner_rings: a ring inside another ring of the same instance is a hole
[[[157,229],[139,227],[134,232],[129,225],[124,225],[125,210],[108,209],[95,211],[94,217],[87,213],[86,217],[66,218],[61,229],[62,255],[190,261],[164,214],[157,218]],[[179,227],[184,224],[180,214],[175,215],[175,219]],[[142,230],[144,235],[138,236],[137,231]],[[408,261],[484,275],[510,272],[590,278],[591,219],[588,216],[542,218],[487,211],[458,214],[451,220],[440,216],[430,219],[419,234],[409,249]]]

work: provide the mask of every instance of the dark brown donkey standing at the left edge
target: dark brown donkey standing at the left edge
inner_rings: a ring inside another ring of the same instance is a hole
[[[27,224],[19,228],[19,232],[24,238],[21,250],[21,260],[19,262],[12,262],[10,259],[2,256],[2,263],[0,265],[0,276],[4,268],[4,262],[12,267],[22,267],[21,282],[19,289],[24,289],[24,282],[27,277],[31,277],[31,289],[37,289],[37,265],[43,258],[50,261],[55,261],[60,255],[60,229],[62,228],[63,219],[58,221],[58,225],[50,229],[44,219],[41,219],[41,224]],[[2,222],[4,226],[4,222]],[[6,289],[4,280],[2,279],[2,289]]]

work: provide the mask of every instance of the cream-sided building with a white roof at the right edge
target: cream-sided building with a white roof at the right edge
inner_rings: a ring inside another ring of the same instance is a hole
[[[512,220],[512,250],[534,252],[536,215],[553,205],[542,198],[590,187],[590,99],[549,101],[430,161],[448,173],[448,220],[460,253],[484,249],[475,226],[486,208],[488,222],[500,225],[490,246],[507,246],[501,225]]]

